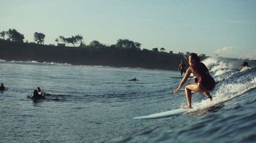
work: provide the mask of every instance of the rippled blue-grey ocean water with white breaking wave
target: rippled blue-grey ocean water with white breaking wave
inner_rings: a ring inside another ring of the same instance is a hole
[[[186,105],[177,71],[0,61],[0,142],[256,142],[256,70],[241,61],[203,61],[217,84],[210,102],[155,120],[134,117]],[[127,81],[137,78],[138,81]],[[193,80],[188,80],[191,83]],[[34,101],[33,90],[52,94]],[[52,100],[58,97],[59,100]]]

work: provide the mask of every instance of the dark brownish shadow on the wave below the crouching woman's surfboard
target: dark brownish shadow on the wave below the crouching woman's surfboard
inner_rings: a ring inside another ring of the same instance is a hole
[[[197,110],[197,111],[194,111],[194,112],[188,112],[188,113],[186,113],[186,115],[188,117],[198,117],[198,116],[205,115],[206,113],[209,113],[209,112],[217,112],[222,107],[224,107],[224,104],[221,103],[221,104],[218,104],[218,105],[215,105],[215,106],[207,107],[205,109]]]

